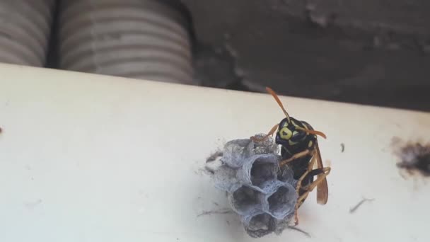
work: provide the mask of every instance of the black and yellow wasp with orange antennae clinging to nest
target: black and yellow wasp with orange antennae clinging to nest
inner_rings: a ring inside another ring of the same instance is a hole
[[[264,137],[251,137],[251,139],[261,142],[272,137],[276,132],[275,142],[281,145],[282,156],[279,166],[290,166],[294,171],[294,179],[298,181],[296,185],[298,199],[294,209],[295,224],[297,225],[298,208],[301,207],[314,188],[317,188],[318,204],[327,203],[328,188],[326,177],[330,173],[330,167],[322,165],[317,135],[324,139],[327,139],[327,137],[324,133],[313,129],[308,122],[291,117],[286,112],[277,94],[271,88],[267,87],[266,90],[277,101],[286,117],[277,125],[274,125]],[[315,162],[317,168],[314,169]],[[314,180],[315,175],[317,179]]]

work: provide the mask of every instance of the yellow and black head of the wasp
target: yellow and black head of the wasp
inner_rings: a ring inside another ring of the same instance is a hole
[[[310,148],[316,136],[308,134],[305,129],[312,129],[312,127],[294,117],[286,117],[279,123],[276,142],[286,147],[307,145]]]

